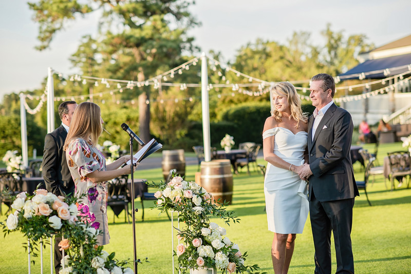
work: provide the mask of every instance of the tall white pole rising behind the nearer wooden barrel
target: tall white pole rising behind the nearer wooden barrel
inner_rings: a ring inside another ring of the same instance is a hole
[[[211,142],[210,142],[210,105],[209,92],[207,86],[209,85],[208,71],[207,71],[207,56],[203,52],[201,54],[201,113],[202,113],[202,135],[204,142],[204,161],[211,160]]]

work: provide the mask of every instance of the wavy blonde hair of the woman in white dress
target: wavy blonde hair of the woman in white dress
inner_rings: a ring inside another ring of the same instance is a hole
[[[291,109],[291,118],[297,121],[297,125],[295,126],[298,128],[298,124],[300,121],[307,123],[308,121],[308,113],[303,113],[301,109],[301,99],[298,96],[295,87],[289,82],[280,82],[277,83],[275,86],[271,88],[271,92],[277,95],[286,96],[288,104],[290,105]],[[279,112],[275,106],[274,101],[271,104],[271,115],[274,116],[275,121],[281,122],[283,114]]]

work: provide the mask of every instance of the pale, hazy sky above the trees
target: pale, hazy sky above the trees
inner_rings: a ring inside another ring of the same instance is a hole
[[[33,0],[34,1],[34,0]],[[323,44],[320,31],[327,23],[345,34],[366,34],[377,46],[411,34],[409,0],[364,1],[221,1],[197,0],[191,8],[202,26],[191,31],[203,51],[221,51],[232,58],[236,50],[256,38],[285,43],[293,31],[311,32]],[[68,61],[81,36],[97,31],[99,14],[70,22],[39,52],[34,46],[38,26],[31,21],[26,1],[3,1],[0,9],[0,99],[4,94],[40,88],[47,68],[75,73]],[[98,75],[94,75],[98,76]]]

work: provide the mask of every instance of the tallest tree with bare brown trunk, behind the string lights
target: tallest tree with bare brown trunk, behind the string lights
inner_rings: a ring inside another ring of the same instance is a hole
[[[53,36],[76,15],[86,15],[98,9],[103,10],[99,53],[102,70],[110,77],[143,81],[164,68],[179,65],[182,52],[195,50],[193,38],[187,35],[187,31],[197,25],[188,11],[189,2],[88,0],[83,3],[76,0],[29,3],[35,12],[33,20],[39,23],[39,50],[49,47]],[[120,30],[111,31],[114,25]],[[145,102],[150,99],[151,91],[151,87],[144,86],[123,93],[126,99],[138,96],[139,133],[143,140],[150,138],[150,104]]]

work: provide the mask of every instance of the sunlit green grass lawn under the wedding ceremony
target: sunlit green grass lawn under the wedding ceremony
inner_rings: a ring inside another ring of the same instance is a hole
[[[364,145],[373,152],[373,145]],[[382,144],[378,152],[380,164],[388,151],[403,150],[401,143]],[[259,163],[265,164],[263,160]],[[197,165],[186,167],[186,180],[194,180]],[[357,162],[354,164],[357,180],[364,180],[364,169]],[[160,168],[136,172],[136,178],[150,181],[162,180]],[[387,186],[389,183],[387,181]],[[254,171],[251,176],[243,171],[234,175],[233,204],[234,210],[241,219],[240,224],[224,226],[227,236],[238,243],[241,251],[248,251],[248,264],[258,264],[262,270],[273,273],[270,247],[273,233],[267,230],[267,217],[264,211],[264,178]],[[395,191],[387,190],[382,175],[367,187],[372,206],[368,206],[363,191],[356,199],[353,209],[352,246],[354,264],[357,273],[410,273],[411,272],[411,188],[405,184]],[[154,191],[151,189],[150,191]],[[152,202],[145,202],[144,222],[141,222],[141,204],[136,200],[136,242],[137,257],[148,257],[150,263],[139,264],[140,273],[171,273],[171,222],[166,215],[158,216],[158,210],[150,209]],[[5,207],[4,207],[5,208]],[[4,211],[4,210],[3,210]],[[4,212],[3,212],[4,213]],[[124,212],[113,223],[113,211],[108,210],[110,244],[104,249],[116,252],[120,260],[133,258],[132,225],[124,223]],[[4,220],[4,215],[0,220]],[[219,220],[215,220],[222,225]],[[26,240],[21,233],[11,233],[0,238],[0,273],[14,274],[28,272],[27,253],[22,247]],[[49,272],[50,249],[45,249],[44,267]],[[335,272],[335,251],[331,250]],[[298,234],[294,256],[289,273],[312,273],[314,270],[314,247],[312,243],[310,222],[307,220],[304,233]],[[40,259],[32,266],[32,273],[40,273]],[[45,271],[46,271],[45,270]]]

